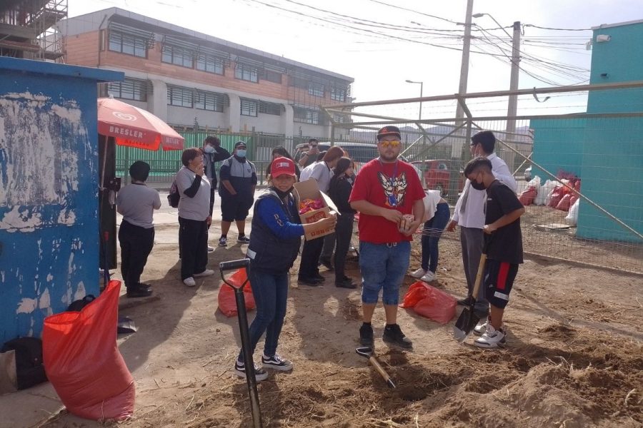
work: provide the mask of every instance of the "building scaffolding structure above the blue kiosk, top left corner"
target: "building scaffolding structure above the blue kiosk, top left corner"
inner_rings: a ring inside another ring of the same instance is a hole
[[[62,62],[67,0],[0,1],[0,56]]]

